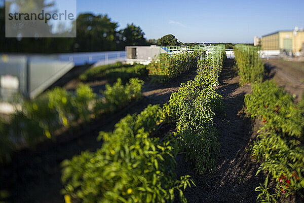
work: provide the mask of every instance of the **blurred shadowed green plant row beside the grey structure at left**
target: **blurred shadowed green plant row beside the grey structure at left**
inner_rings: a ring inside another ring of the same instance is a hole
[[[137,78],[126,85],[118,79],[113,86],[106,85],[101,98],[89,85],[80,84],[75,93],[56,87],[34,100],[24,100],[21,110],[0,122],[0,160],[8,160],[16,146],[34,144],[44,136],[54,139],[55,131],[62,126],[122,108],[140,98],[142,85]]]

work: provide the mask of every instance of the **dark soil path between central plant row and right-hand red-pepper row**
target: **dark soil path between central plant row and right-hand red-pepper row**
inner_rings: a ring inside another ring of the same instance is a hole
[[[179,175],[191,175],[197,185],[185,192],[188,202],[256,201],[254,188],[259,185],[259,177],[255,177],[257,166],[246,151],[251,136],[255,135],[251,132],[250,119],[242,113],[244,96],[251,91],[251,86],[239,87],[233,63],[232,59],[227,59],[218,86],[226,116],[217,117],[214,123],[221,145],[216,171],[199,175],[182,159],[177,163]]]

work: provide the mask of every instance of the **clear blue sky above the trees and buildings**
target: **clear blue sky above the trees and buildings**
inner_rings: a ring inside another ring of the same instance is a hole
[[[253,43],[253,37],[304,27],[304,1],[77,0],[77,12],[108,14],[147,39],[172,33],[182,42]]]

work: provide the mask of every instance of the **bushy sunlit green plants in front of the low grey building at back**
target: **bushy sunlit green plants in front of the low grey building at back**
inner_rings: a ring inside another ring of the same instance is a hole
[[[198,52],[181,52],[170,56],[169,54],[160,54],[157,60],[152,61],[147,69],[149,76],[159,82],[165,82],[176,78],[182,72],[197,67]]]

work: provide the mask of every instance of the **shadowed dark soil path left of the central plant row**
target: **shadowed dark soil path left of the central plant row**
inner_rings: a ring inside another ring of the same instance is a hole
[[[42,143],[37,147],[39,149],[26,149],[16,153],[10,164],[0,165],[0,190],[10,192],[11,198],[8,202],[64,202],[60,194],[63,187],[60,180],[60,163],[64,159],[70,159],[85,150],[95,151],[100,148],[102,143],[96,141],[99,131],[112,130],[121,118],[127,114],[139,113],[149,104],[164,104],[169,100],[171,93],[178,90],[181,83],[192,80],[195,75],[196,72],[193,69],[167,84],[147,82],[143,87],[142,99],[123,113],[113,113],[86,124],[83,126],[84,129],[68,132],[80,133],[81,135],[77,138],[68,142],[55,143],[53,147],[47,149],[44,149],[44,143]],[[98,125],[97,128],[96,125]]]

